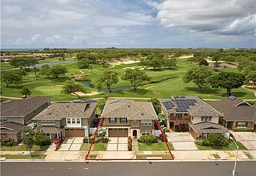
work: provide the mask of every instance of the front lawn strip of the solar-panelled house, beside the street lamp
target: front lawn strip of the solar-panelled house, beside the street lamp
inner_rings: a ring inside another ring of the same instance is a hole
[[[247,150],[246,146],[243,146],[242,143],[237,142],[239,150]],[[230,142],[228,146],[198,146],[198,150],[237,150],[234,142]]]

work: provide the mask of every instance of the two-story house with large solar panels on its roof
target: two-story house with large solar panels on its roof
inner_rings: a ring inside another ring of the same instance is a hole
[[[194,138],[206,138],[211,133],[228,135],[226,128],[218,124],[223,115],[198,97],[176,96],[159,102],[168,129],[187,128]]]

